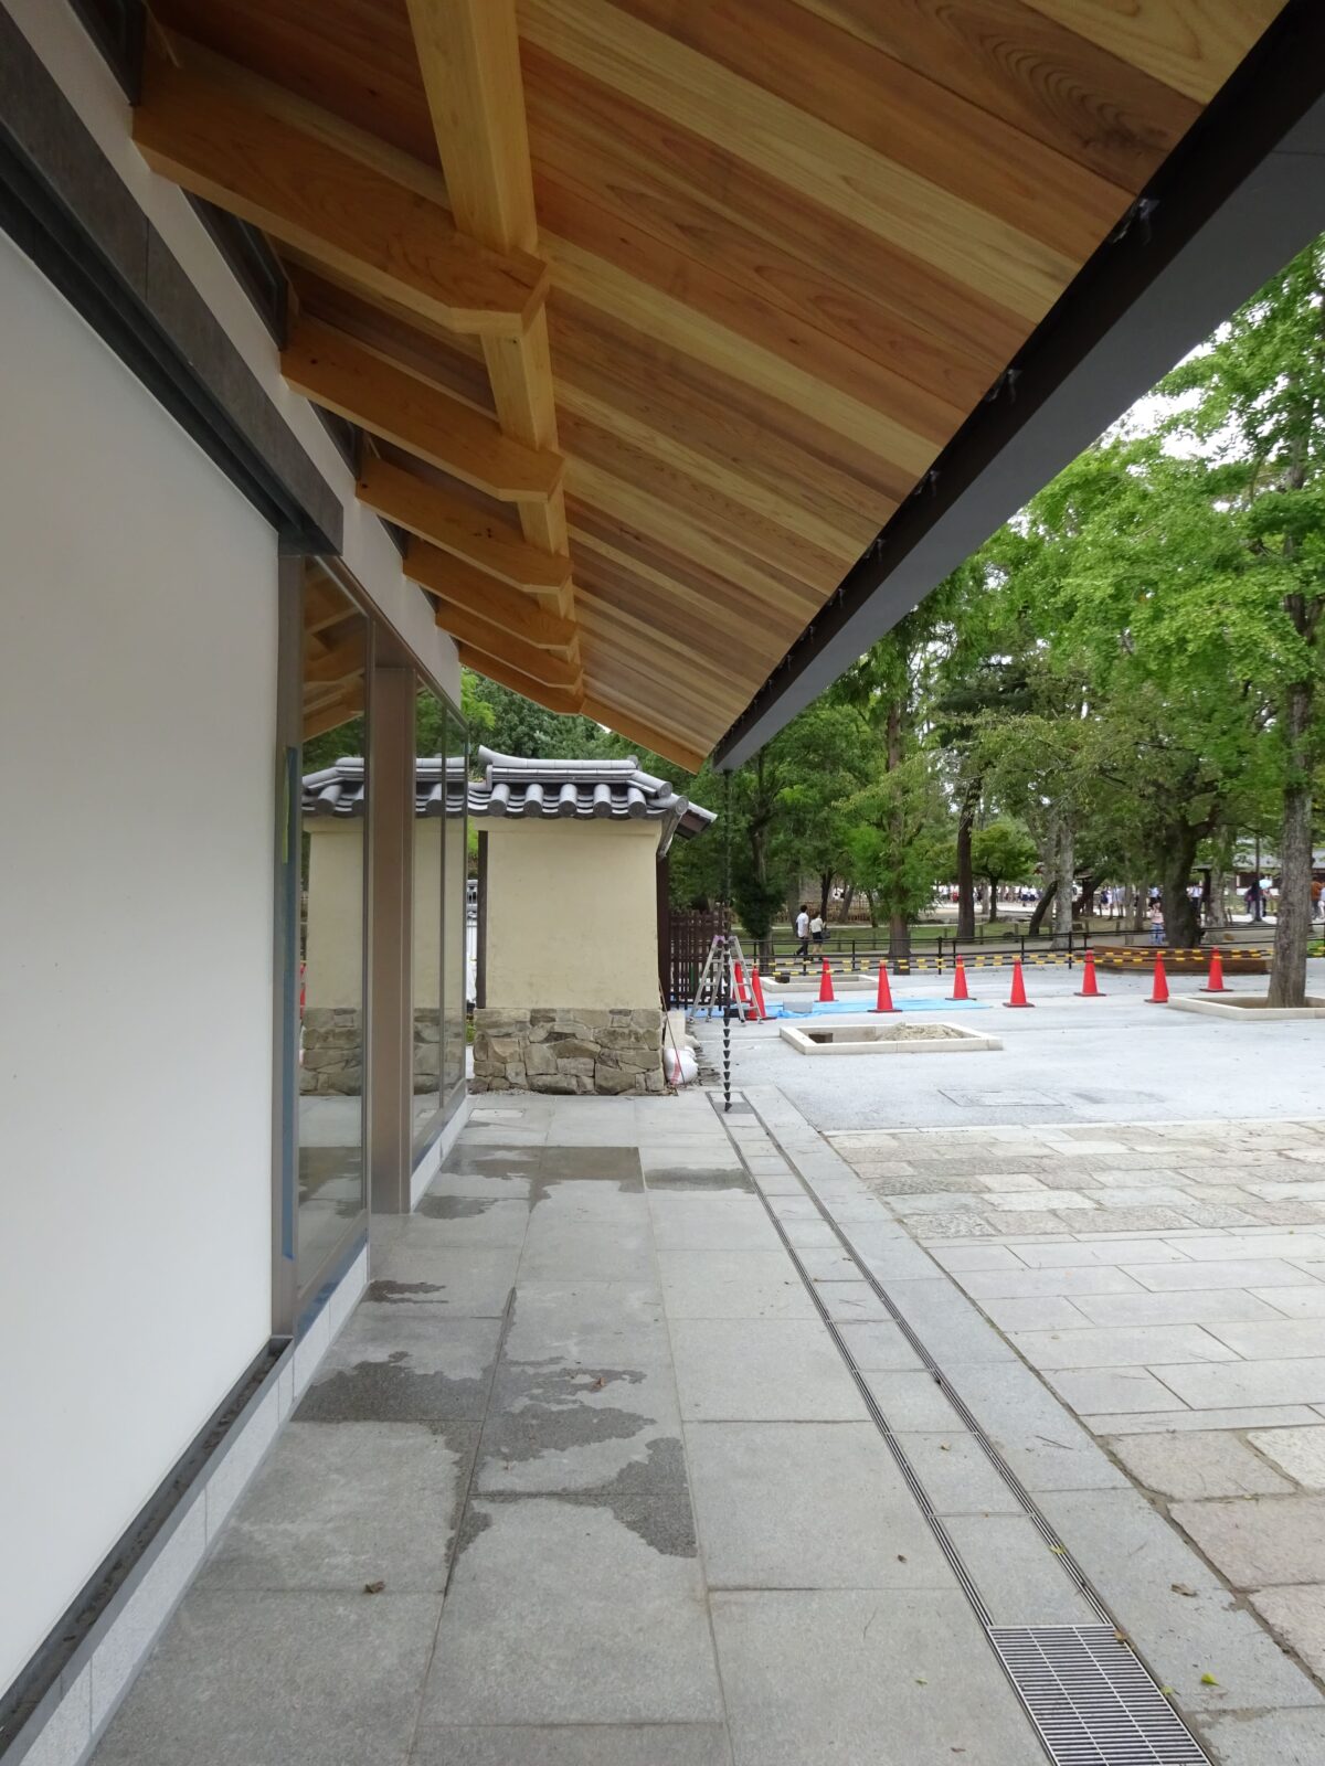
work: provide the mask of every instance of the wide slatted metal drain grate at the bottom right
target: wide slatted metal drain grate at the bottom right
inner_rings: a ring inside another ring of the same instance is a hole
[[[1058,1766],[1208,1766],[1108,1625],[1002,1625],[989,1641]]]

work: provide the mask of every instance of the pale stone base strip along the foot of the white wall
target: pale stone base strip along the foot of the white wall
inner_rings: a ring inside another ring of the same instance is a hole
[[[367,1284],[367,1245],[253,1393],[170,1519],[5,1750],[4,1766],[81,1766]]]

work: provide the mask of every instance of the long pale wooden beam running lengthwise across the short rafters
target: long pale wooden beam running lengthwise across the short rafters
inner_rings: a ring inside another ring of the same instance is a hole
[[[514,0],[406,0],[456,224],[493,251],[537,251],[519,26]],[[484,339],[496,415],[530,447],[556,447],[542,313],[519,336]],[[565,551],[565,507],[521,509],[525,539]],[[562,611],[569,611],[564,608]]]

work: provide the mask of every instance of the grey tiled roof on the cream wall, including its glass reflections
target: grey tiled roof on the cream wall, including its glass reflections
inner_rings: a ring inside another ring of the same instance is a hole
[[[482,779],[468,779],[463,758],[424,756],[415,763],[417,816],[539,816],[581,821],[662,821],[659,851],[675,835],[693,839],[714,821],[678,796],[666,779],[641,772],[638,759],[620,761],[528,761],[514,754],[479,749]],[[304,777],[306,816],[362,816],[364,763],[336,761]]]

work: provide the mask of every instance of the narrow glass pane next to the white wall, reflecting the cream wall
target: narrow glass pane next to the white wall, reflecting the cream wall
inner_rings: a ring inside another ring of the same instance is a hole
[[[330,579],[304,600],[299,1240],[304,1287],[366,1206],[364,890],[367,620]]]

